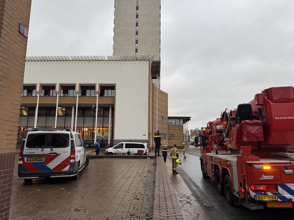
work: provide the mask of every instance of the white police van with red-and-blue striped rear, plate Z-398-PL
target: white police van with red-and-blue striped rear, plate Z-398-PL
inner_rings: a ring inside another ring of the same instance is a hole
[[[39,177],[72,177],[76,180],[79,172],[88,164],[87,152],[79,133],[35,128],[23,138],[17,179],[31,181]]]

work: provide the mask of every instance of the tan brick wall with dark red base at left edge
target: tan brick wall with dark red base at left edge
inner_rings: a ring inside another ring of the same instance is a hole
[[[0,1],[0,219],[8,219],[31,0]]]

